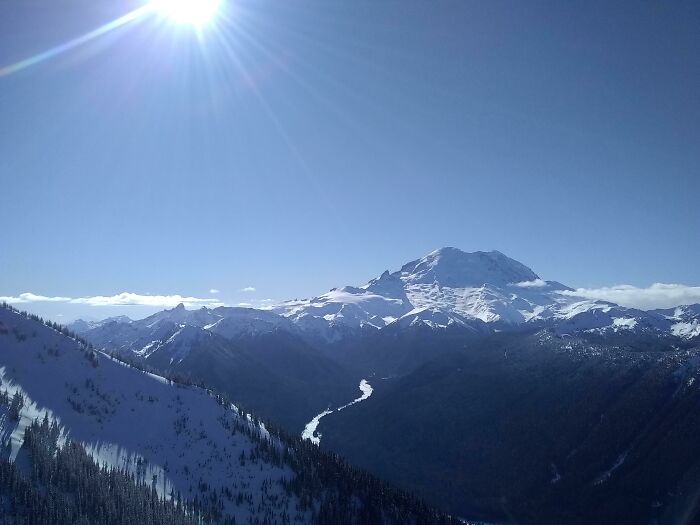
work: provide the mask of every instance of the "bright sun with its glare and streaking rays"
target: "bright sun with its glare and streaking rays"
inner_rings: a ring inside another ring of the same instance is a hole
[[[96,29],[84,33],[76,38],[40,52],[34,56],[14,64],[0,68],[0,78],[26,70],[51,59],[55,59],[70,51],[79,48],[89,42],[100,38],[119,28],[123,28],[134,22],[148,21],[148,31],[160,33],[161,42],[164,45],[168,37],[179,40],[186,36],[180,34],[186,30],[195,36],[199,47],[203,51],[197,60],[204,65],[205,82],[209,84],[210,102],[212,105],[223,100],[225,93],[223,86],[238,86],[252,95],[262,109],[262,114],[272,125],[275,134],[286,146],[292,158],[307,179],[307,184],[319,197],[320,202],[329,199],[324,195],[325,191],[320,178],[309,165],[294,134],[287,129],[284,119],[275,109],[273,101],[265,96],[264,86],[261,83],[276,72],[281,72],[284,77],[291,80],[295,86],[301,87],[307,95],[311,96],[319,107],[333,114],[339,124],[349,126],[359,139],[366,136],[367,130],[360,122],[355,121],[350,115],[344,114],[339,108],[323,96],[322,90],[316,86],[315,79],[306,78],[306,74],[295,72],[289,67],[288,60],[293,60],[295,67],[306,66],[299,64],[294,57],[287,57],[280,49],[275,49],[273,42],[265,38],[265,28],[256,27],[256,10],[234,2],[224,0],[145,0],[145,3],[118,18],[107,22]],[[151,23],[152,26],[151,27]],[[186,26],[186,27],[179,27]],[[167,29],[167,31],[163,31]],[[206,29],[206,35],[205,33]],[[206,36],[206,38],[205,38]],[[315,42],[321,45],[320,42]],[[218,52],[217,49],[218,48]],[[193,50],[188,50],[191,52]],[[327,50],[326,50],[327,51]],[[217,57],[217,55],[219,55]],[[262,58],[256,60],[255,56]],[[187,57],[185,57],[187,59]],[[307,71],[308,72],[308,71]],[[311,72],[318,77],[319,71]],[[218,79],[217,79],[218,77]],[[182,82],[188,82],[188,78],[181,78]],[[352,90],[343,88],[352,95]],[[328,211],[335,214],[336,211],[328,206]]]

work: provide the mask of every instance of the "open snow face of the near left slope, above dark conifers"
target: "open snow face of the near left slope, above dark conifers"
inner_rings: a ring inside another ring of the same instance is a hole
[[[265,516],[279,520],[283,513],[300,522],[309,519],[280,486],[293,476],[289,468],[260,459],[240,462],[242,453],[250,457],[255,443],[233,429],[236,422],[253,423],[202,389],[169,384],[104,355],[90,359],[76,341],[4,308],[0,378],[2,389],[10,395],[19,390],[26,400],[18,423],[0,421],[13,455],[24,427],[48,412],[100,462],[155,480],[161,494],[173,489],[183,498],[202,498],[207,491],[228,488],[252,496],[240,505],[226,500],[225,511],[240,522]],[[207,490],[202,491],[202,483]]]

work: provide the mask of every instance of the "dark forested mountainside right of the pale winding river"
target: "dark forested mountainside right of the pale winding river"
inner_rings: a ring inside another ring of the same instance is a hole
[[[543,329],[374,349],[372,397],[324,417],[321,448],[488,523],[699,522],[700,345]]]

